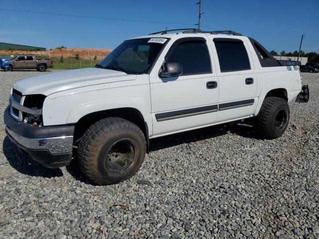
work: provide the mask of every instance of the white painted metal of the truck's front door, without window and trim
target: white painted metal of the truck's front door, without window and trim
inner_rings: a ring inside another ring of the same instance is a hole
[[[190,37],[197,36],[191,34]],[[205,38],[208,43],[207,36],[200,35],[200,37]],[[199,74],[171,78],[159,77],[160,67],[164,62],[164,57],[172,44],[172,40],[168,42],[150,75],[154,135],[164,134],[175,130],[188,129],[194,126],[211,124],[216,120],[217,117],[217,112],[213,112],[164,121],[157,121],[155,118],[155,115],[158,113],[184,110],[218,103],[218,87],[215,89],[207,89],[206,87],[206,83],[209,81],[216,81],[218,85],[218,77],[214,64],[212,64],[213,73],[211,74]],[[212,56],[209,43],[207,48]]]

